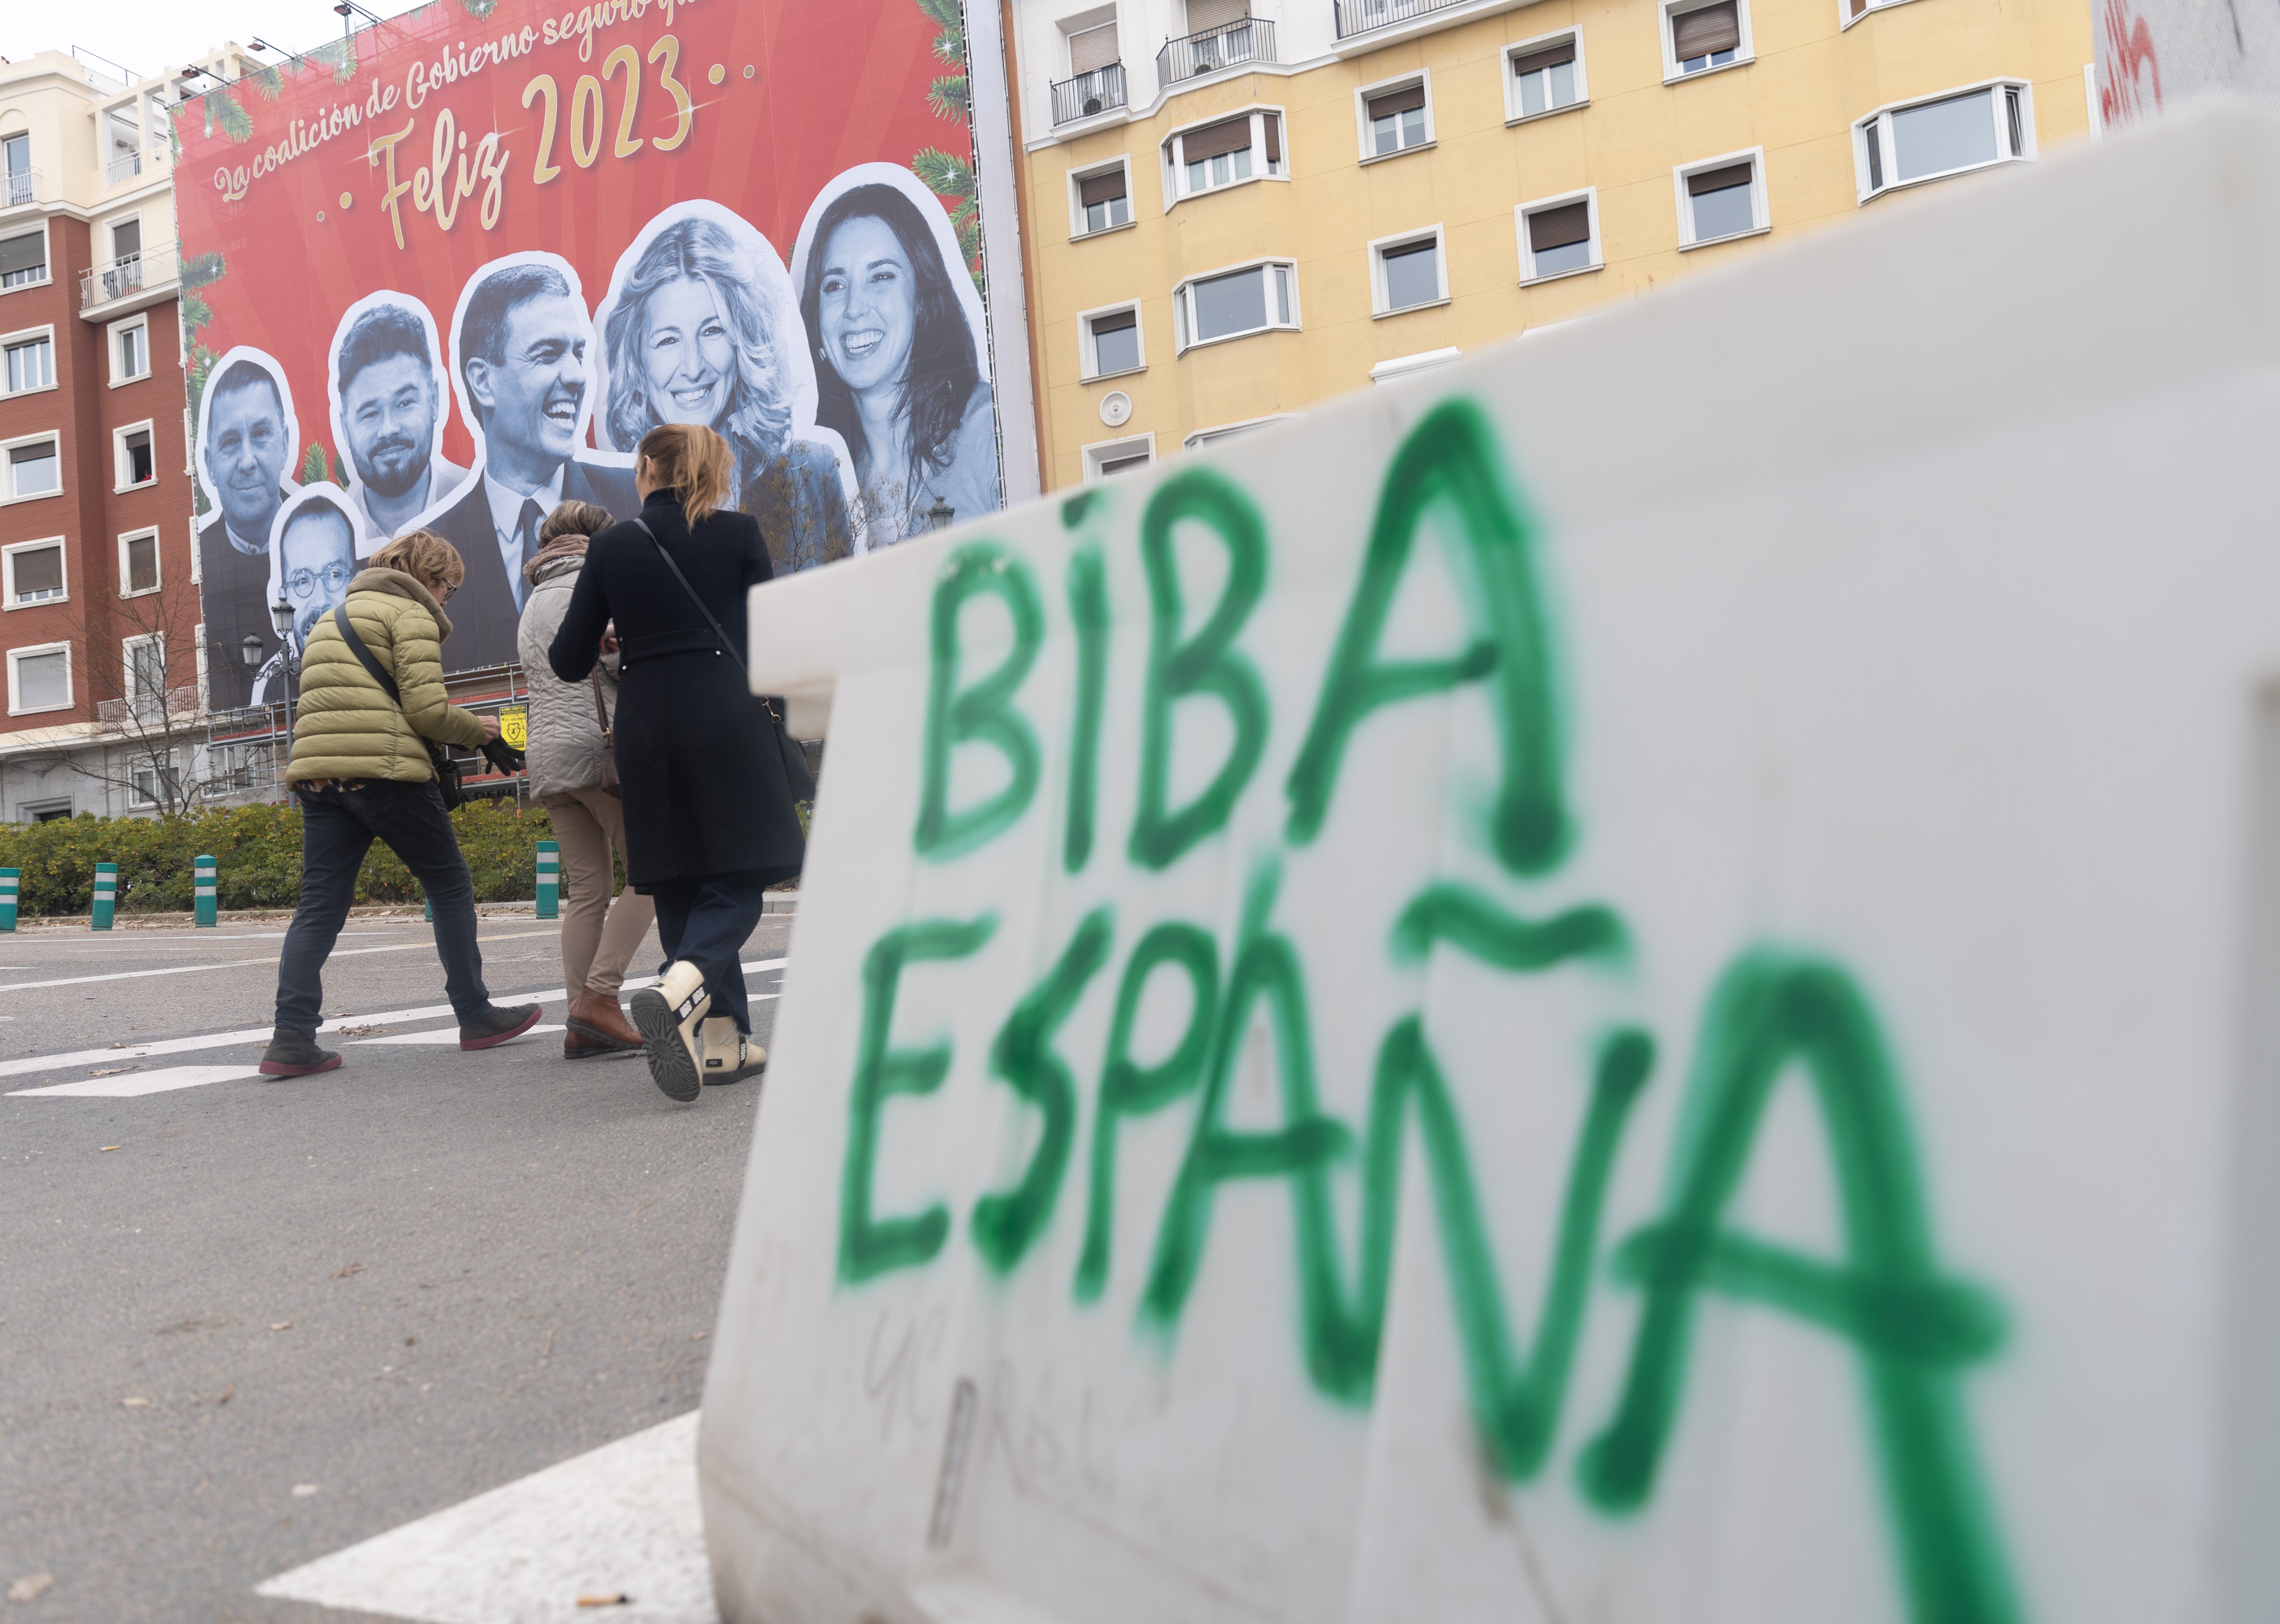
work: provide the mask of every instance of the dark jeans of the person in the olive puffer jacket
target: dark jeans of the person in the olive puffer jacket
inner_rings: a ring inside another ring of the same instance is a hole
[[[474,945],[474,881],[433,784],[365,779],[360,788],[294,788],[301,802],[301,907],[278,959],[278,1025],[315,1036],[324,961],[356,900],[356,870],[378,840],[413,870],[435,907],[435,952],[461,1025],[490,1009],[483,952]]]

